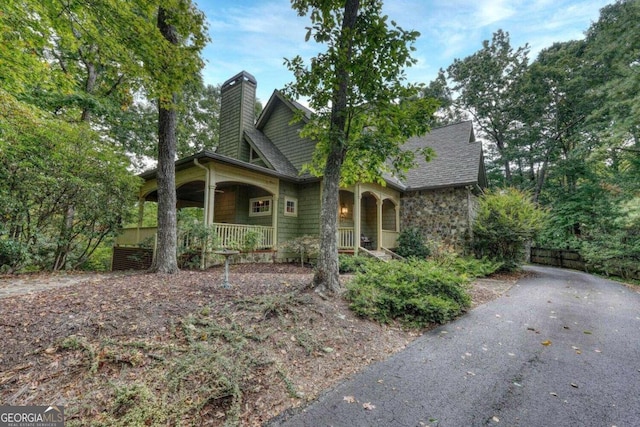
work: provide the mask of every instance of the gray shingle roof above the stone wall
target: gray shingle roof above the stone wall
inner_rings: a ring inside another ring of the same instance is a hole
[[[472,122],[461,122],[432,129],[426,135],[410,138],[404,149],[415,151],[431,147],[436,157],[426,162],[416,155],[416,166],[406,173],[408,190],[480,184],[482,144],[475,141]]]

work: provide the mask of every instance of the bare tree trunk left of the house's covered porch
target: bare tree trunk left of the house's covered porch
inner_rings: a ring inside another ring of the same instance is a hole
[[[169,16],[163,7],[158,8],[158,29],[172,44],[178,44],[175,27],[168,23]],[[156,257],[151,271],[176,273],[177,260],[177,214],[176,214],[176,94],[170,101],[158,101],[158,238]]]

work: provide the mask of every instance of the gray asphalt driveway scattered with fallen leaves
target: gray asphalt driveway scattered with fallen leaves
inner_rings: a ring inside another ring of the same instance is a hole
[[[271,425],[640,426],[640,293],[527,269],[501,298]]]

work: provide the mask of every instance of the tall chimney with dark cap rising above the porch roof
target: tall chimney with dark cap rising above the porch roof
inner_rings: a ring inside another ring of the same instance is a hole
[[[242,71],[222,85],[220,89],[220,142],[217,153],[239,160],[248,160],[249,148],[243,143],[245,129],[255,125],[255,77]]]

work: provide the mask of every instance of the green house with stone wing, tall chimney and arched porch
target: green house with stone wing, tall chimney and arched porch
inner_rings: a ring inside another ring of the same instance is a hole
[[[221,87],[220,142],[176,162],[178,208],[204,209],[223,246],[252,231],[259,248],[281,258],[278,246],[320,229],[321,178],[302,173],[315,144],[299,136],[309,111],[274,91],[254,119],[257,82],[241,72]],[[486,185],[482,147],[471,122],[411,138],[407,149],[432,147],[436,158],[418,159],[406,179],[386,185],[358,183],[340,190],[339,249],[395,248],[400,231],[418,227],[429,239],[461,248],[471,235],[476,195]],[[140,201],[157,200],[155,170],[141,175]],[[141,203],[141,205],[144,205]],[[117,245],[135,245],[154,228],[123,230]]]

